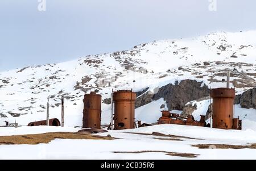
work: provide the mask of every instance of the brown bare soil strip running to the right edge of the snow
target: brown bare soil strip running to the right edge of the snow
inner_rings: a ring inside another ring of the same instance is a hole
[[[197,144],[192,145],[192,147],[197,147],[200,149],[211,149],[211,148],[217,148],[217,149],[256,149],[256,144],[250,144],[250,145],[228,145],[228,144]]]

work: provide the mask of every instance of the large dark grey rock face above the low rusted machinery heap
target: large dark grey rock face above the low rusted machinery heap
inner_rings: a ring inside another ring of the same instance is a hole
[[[145,93],[139,97],[135,103],[135,107],[140,107],[164,98],[169,110],[183,110],[186,103],[209,95],[208,86],[201,86],[202,82],[195,80],[183,80],[180,83],[168,84],[160,87],[157,93]]]

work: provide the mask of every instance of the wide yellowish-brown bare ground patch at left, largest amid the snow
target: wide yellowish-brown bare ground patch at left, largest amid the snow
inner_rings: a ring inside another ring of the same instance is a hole
[[[45,134],[0,136],[0,145],[40,144],[49,143],[54,139],[113,140],[113,137],[97,136],[91,134],[77,134],[75,132],[50,132]]]

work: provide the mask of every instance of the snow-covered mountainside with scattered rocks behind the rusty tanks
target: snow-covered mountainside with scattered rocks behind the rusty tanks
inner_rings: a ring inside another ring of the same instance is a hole
[[[225,87],[228,69],[232,70],[230,84],[237,94],[256,87],[256,31],[152,41],[127,51],[1,72],[0,123],[16,120],[19,125],[27,125],[46,119],[48,96],[50,117],[60,119],[60,99],[65,95],[65,125],[81,126],[82,99],[89,91],[98,90],[103,101],[112,89],[138,92],[148,88],[146,91],[154,93],[157,87],[186,79],[203,82],[202,86],[209,88]],[[163,98],[152,101],[136,109],[135,116],[144,122],[156,122],[164,103]],[[206,112],[209,99],[196,103],[198,109],[193,114],[199,116]],[[256,110],[239,105],[236,109],[236,115],[247,119],[243,126],[251,128]],[[103,103],[102,124],[109,122],[110,105]]]

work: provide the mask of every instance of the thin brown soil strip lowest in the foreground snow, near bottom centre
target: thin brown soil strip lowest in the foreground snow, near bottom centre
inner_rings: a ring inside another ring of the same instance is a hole
[[[139,154],[139,153],[166,153],[168,156],[177,156],[177,157],[189,157],[195,158],[199,155],[195,155],[192,153],[175,153],[175,152],[167,152],[167,151],[134,151],[134,152],[114,152],[114,153],[126,153],[126,154]]]

